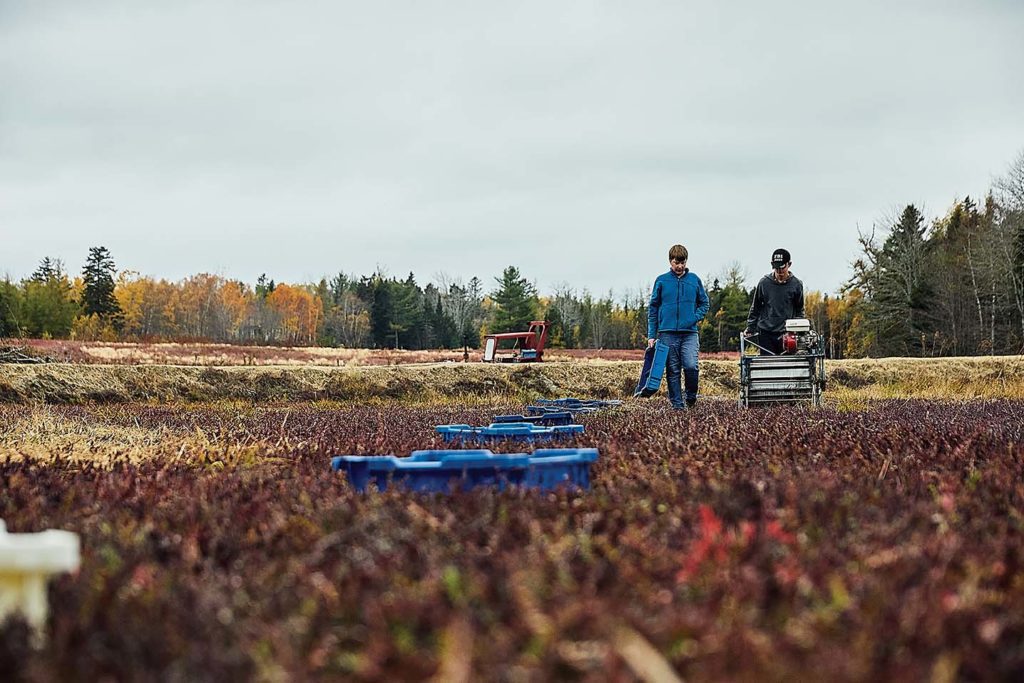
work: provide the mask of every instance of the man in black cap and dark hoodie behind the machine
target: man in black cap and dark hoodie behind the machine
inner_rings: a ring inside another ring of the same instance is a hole
[[[771,255],[772,271],[761,279],[754,289],[754,301],[746,316],[745,337],[772,353],[782,352],[785,322],[804,317],[804,284],[790,272],[793,261],[785,249]]]

